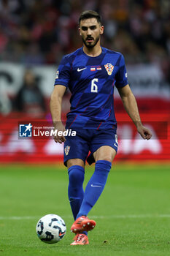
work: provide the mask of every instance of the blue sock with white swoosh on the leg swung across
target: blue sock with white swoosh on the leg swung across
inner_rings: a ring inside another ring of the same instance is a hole
[[[101,192],[104,190],[107,182],[107,176],[112,164],[109,161],[98,160],[95,165],[95,171],[93,176],[88,181],[85,188],[85,195],[80,207],[80,211],[77,214],[77,218],[85,215],[87,216],[91,208],[95,205]]]

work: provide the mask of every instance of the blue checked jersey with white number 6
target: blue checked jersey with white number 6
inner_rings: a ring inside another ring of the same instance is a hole
[[[66,128],[107,129],[117,127],[114,111],[114,87],[128,84],[121,53],[101,48],[90,57],[82,48],[63,56],[55,86],[63,85],[72,93]]]

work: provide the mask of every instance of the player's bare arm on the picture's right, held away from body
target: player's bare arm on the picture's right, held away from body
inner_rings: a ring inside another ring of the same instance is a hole
[[[152,137],[152,133],[150,132],[150,129],[144,127],[142,124],[136,99],[131,91],[130,86],[126,85],[117,88],[117,90],[119,91],[120,97],[123,101],[123,106],[128,113],[128,116],[131,117],[131,120],[134,121],[134,124],[136,125],[137,131],[143,139],[150,140],[150,138]]]

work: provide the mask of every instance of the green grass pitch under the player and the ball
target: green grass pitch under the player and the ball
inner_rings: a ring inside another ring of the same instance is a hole
[[[0,166],[0,256],[170,255],[170,165],[115,163],[107,186],[88,215],[96,220],[88,246],[70,246],[74,235],[63,165]],[[93,173],[87,167],[85,184]],[[66,222],[66,236],[45,244],[36,222],[45,214]]]

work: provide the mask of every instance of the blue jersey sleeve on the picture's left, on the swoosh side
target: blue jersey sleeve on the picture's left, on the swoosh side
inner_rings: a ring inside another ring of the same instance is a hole
[[[58,70],[56,72],[54,86],[61,85],[66,86],[67,88],[69,86],[70,74],[71,64],[69,63],[66,56],[63,56],[61,64],[58,66]]]

